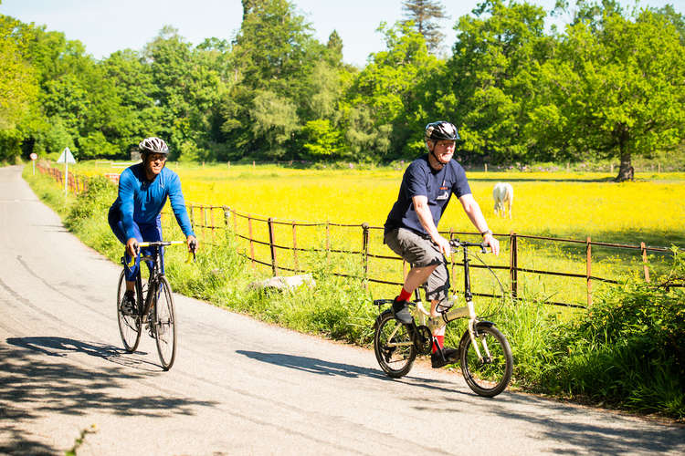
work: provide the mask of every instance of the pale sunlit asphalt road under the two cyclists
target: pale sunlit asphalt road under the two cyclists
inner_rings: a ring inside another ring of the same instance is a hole
[[[104,217],[105,214],[102,214]],[[505,391],[175,296],[179,352],[121,348],[119,267],[0,168],[0,453],[684,454],[685,429]],[[94,426],[94,428],[93,428]]]

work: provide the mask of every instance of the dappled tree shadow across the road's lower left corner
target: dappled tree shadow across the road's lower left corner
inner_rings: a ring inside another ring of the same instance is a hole
[[[160,368],[138,368],[140,360],[111,345],[65,337],[11,337],[0,345],[0,453],[55,454],[26,433],[31,420],[48,414],[163,418],[193,415],[195,407],[213,407],[216,402],[173,397],[168,392],[142,395],[132,384],[144,382],[149,391]],[[90,368],[75,361],[81,354],[103,358],[113,364]],[[144,364],[144,362],[142,362]],[[133,392],[132,392],[133,391]]]

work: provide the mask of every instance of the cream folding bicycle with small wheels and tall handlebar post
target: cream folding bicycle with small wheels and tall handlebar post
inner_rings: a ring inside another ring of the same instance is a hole
[[[405,376],[412,368],[416,355],[427,355],[435,342],[439,356],[444,358],[443,350],[434,341],[435,329],[446,326],[458,318],[469,318],[467,330],[458,344],[458,360],[461,372],[469,388],[480,396],[492,398],[507,388],[513,371],[511,347],[494,323],[480,320],[476,315],[471,293],[469,275],[469,247],[479,247],[486,253],[485,244],[474,244],[458,239],[449,241],[453,253],[461,248],[464,253],[464,297],[466,306],[453,307],[457,296],[438,306],[440,316],[430,316],[416,292],[416,302],[409,303],[413,316],[411,324],[403,324],[395,319],[391,309],[392,299],[376,299],[379,316],[374,324],[374,352],[378,364],[392,378]]]

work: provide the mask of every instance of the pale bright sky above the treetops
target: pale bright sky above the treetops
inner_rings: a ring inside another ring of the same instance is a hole
[[[447,36],[445,51],[455,41],[453,26],[458,17],[470,14],[481,0],[442,0],[449,19],[441,22]],[[67,39],[78,39],[95,58],[109,57],[114,51],[142,50],[165,25],[174,26],[179,35],[194,45],[215,36],[231,40],[240,27],[240,0],[0,0],[0,14],[25,23],[45,25],[47,30],[63,32]],[[311,23],[313,35],[321,43],[336,30],[342,37],[346,63],[364,67],[369,54],[385,49],[383,36],[376,28],[385,21],[403,19],[402,0],[290,0],[296,12]],[[529,0],[550,11],[554,0]],[[570,0],[574,4],[574,0]],[[634,5],[634,0],[621,0]],[[640,0],[641,6],[673,5],[685,14],[685,0]],[[548,26],[551,23],[548,24]],[[564,18],[557,20],[564,26]]]

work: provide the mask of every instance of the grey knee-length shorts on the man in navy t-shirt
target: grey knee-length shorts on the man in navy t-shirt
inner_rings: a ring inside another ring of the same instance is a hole
[[[431,301],[434,299],[442,301],[448,296],[448,262],[433,241],[406,228],[398,228],[385,234],[384,242],[390,250],[404,258],[412,267],[437,264],[435,271],[428,276],[426,297]]]

